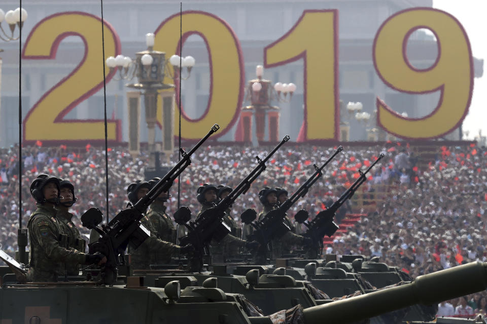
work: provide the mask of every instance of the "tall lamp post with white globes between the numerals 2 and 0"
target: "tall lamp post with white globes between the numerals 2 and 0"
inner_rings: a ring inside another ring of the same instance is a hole
[[[159,151],[166,152],[167,159],[174,148],[173,143],[173,115],[175,101],[175,86],[165,84],[164,77],[169,76],[172,80],[185,80],[191,74],[191,69],[195,64],[195,59],[191,56],[180,57],[172,55],[166,59],[165,52],[154,51],[155,36],[153,33],[146,34],[147,50],[135,53],[135,59],[127,56],[117,55],[109,57],[106,64],[110,69],[118,69],[118,76],[115,79],[132,80],[137,78],[136,83],[126,84],[128,88],[135,89],[134,92],[127,92],[129,103],[129,135],[134,133],[130,131],[130,116],[136,115],[130,113],[130,110],[139,106],[140,113],[140,94],[144,95],[144,106],[146,111],[146,123],[148,128],[148,146],[149,152],[155,153],[154,164],[158,167]],[[186,68],[186,75],[179,75],[180,64]],[[172,68],[171,68],[172,66]],[[161,91],[164,90],[164,91]],[[162,144],[163,147],[155,145],[155,125],[157,123],[157,97],[162,98]],[[137,100],[138,96],[138,100]],[[132,107],[131,107],[132,105]],[[134,126],[135,127],[135,126]],[[137,126],[138,127],[138,126]],[[138,131],[136,136],[138,137]],[[129,140],[130,146],[130,140]],[[130,147],[129,147],[130,149]]]

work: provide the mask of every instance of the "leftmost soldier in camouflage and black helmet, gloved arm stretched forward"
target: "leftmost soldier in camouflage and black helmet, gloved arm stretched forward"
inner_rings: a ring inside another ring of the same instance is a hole
[[[77,264],[103,264],[107,258],[100,253],[85,254],[67,246],[67,235],[63,234],[56,218],[60,200],[59,179],[50,175],[39,175],[30,185],[30,194],[38,208],[27,223],[30,237],[30,268],[28,281],[57,281],[65,274],[65,268]]]

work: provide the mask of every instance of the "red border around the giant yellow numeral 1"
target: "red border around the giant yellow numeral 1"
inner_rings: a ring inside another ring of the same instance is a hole
[[[285,61],[279,62],[279,63],[273,63],[273,64],[267,64],[267,49],[274,46],[274,44],[277,44],[282,41],[285,37],[287,37],[289,34],[293,32],[293,30],[299,25],[301,20],[304,18],[304,15],[306,13],[314,13],[314,12],[332,12],[333,13],[333,28],[334,28],[334,35],[333,35],[333,46],[335,50],[335,62],[333,64],[333,73],[335,77],[335,129],[334,129],[334,138],[329,138],[329,139],[314,139],[314,140],[308,140],[307,139],[307,124],[306,120],[308,117],[308,104],[307,104],[307,62],[306,62],[306,51],[303,51],[301,54],[296,55],[293,58],[287,59]],[[298,21],[291,27],[291,29],[288,30],[287,33],[285,33],[283,36],[281,36],[277,41],[272,42],[271,44],[267,45],[264,48],[264,67],[275,67],[275,66],[281,66],[285,65],[290,62],[297,61],[299,59],[303,59],[304,62],[304,68],[303,68],[303,98],[304,98],[304,111],[303,111],[303,126],[301,127],[301,130],[299,131],[299,134],[303,134],[304,138],[303,139],[297,139],[301,141],[306,141],[307,143],[322,143],[323,140],[338,140],[338,134],[339,134],[339,128],[340,128],[340,105],[339,105],[339,89],[338,89],[338,10],[337,9],[324,9],[324,10],[316,10],[316,9],[310,9],[310,10],[304,10],[301,16],[299,17]]]

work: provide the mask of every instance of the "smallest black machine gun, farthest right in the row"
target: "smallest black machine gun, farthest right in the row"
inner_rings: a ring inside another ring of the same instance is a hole
[[[366,174],[382,157],[384,157],[384,154],[380,153],[379,157],[377,157],[374,163],[372,163],[367,170],[359,170],[360,176],[357,178],[357,180],[333,203],[333,205],[327,207],[327,209],[324,211],[319,212],[315,219],[313,219],[311,222],[305,223],[305,220],[308,219],[308,213],[306,211],[300,211],[301,214],[299,217],[295,217],[298,223],[304,224],[308,228],[303,236],[309,237],[313,241],[310,251],[308,252],[308,256],[310,258],[316,258],[316,256],[320,254],[320,251],[323,249],[323,236],[328,235],[330,237],[335,234],[336,230],[338,229],[338,225],[336,225],[334,222],[336,211],[345,203],[347,199],[351,198],[362,183],[367,180]]]

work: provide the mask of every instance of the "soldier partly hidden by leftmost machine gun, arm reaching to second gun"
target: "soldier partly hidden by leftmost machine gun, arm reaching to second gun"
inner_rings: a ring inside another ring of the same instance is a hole
[[[144,197],[152,185],[147,181],[137,180],[127,188],[128,200],[132,205]],[[137,248],[129,246],[132,269],[150,269],[151,264],[168,263],[172,255],[187,254],[193,250],[191,246],[180,247],[167,241],[157,238],[154,225],[144,213],[141,219],[142,225],[150,231],[150,236]]]

